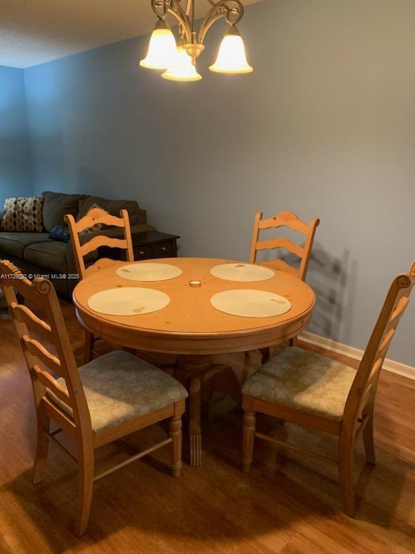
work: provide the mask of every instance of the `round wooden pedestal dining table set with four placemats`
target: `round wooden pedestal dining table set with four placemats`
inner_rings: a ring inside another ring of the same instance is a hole
[[[127,280],[116,274],[126,262],[115,262],[81,280],[73,291],[73,301],[80,323],[98,337],[127,348],[176,355],[174,367],[166,369],[188,388],[190,464],[199,466],[202,399],[208,399],[213,391],[222,391],[238,401],[241,390],[232,369],[213,364],[212,355],[266,348],[297,337],[311,320],[315,295],[306,283],[284,271],[276,270],[268,280],[248,283],[224,280],[210,273],[217,265],[245,262],[163,258],[136,263],[153,262],[174,265],[182,273],[169,280]],[[170,301],[162,310],[146,314],[114,316],[91,310],[89,298],[93,294],[120,287],[155,289],[167,294]],[[270,317],[235,316],[216,310],[210,298],[231,289],[272,292],[291,301],[291,309]]]

